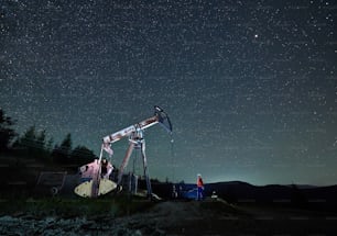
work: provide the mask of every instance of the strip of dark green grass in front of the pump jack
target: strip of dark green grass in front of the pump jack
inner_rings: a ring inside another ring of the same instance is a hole
[[[122,196],[113,199],[2,199],[0,215],[31,215],[34,217],[89,217],[107,215],[119,217],[146,211],[155,203],[146,200],[131,200]]]

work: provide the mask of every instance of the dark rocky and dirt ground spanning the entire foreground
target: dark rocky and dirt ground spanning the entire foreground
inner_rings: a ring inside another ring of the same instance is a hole
[[[167,201],[119,217],[2,215],[0,235],[337,235],[336,223],[336,215],[301,210]]]

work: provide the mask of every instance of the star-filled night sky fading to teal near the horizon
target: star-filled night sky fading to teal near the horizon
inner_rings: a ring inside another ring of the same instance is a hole
[[[0,106],[98,155],[160,105],[152,178],[336,184],[336,21],[331,0],[2,0]]]

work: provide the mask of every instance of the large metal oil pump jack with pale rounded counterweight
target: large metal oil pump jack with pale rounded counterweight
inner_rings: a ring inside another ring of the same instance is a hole
[[[144,130],[155,124],[161,124],[170,134],[172,134],[172,124],[168,115],[164,112],[163,109],[155,105],[153,116],[104,137],[99,159],[79,168],[83,183],[75,188],[75,193],[84,198],[95,198],[106,194],[116,188],[121,189],[120,184],[122,181],[123,171],[128,166],[132,151],[134,149],[139,149],[141,151],[141,158],[143,162],[143,173],[146,181],[148,196],[151,198],[152,188],[148,170],[148,159],[145,155]],[[129,137],[129,147],[120,166],[116,183],[109,179],[101,178],[102,151],[106,150],[109,155],[112,155],[112,149],[110,148],[111,144],[124,137]]]

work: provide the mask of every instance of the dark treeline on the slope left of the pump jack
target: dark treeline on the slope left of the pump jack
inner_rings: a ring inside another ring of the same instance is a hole
[[[0,154],[34,158],[45,164],[65,166],[77,169],[78,166],[91,162],[96,156],[85,146],[73,148],[72,134],[67,134],[61,144],[54,144],[53,137],[47,138],[45,130],[29,127],[22,135],[14,130],[14,121],[0,109]]]

